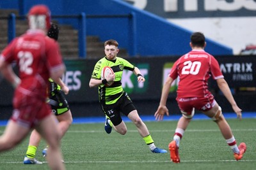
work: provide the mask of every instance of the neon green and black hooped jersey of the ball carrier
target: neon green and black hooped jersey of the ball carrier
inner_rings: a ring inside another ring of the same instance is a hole
[[[105,85],[99,86],[99,100],[101,104],[114,104],[124,93],[121,83],[124,69],[133,71],[134,66],[120,57],[116,57],[116,60],[108,60],[107,57],[104,57],[95,64],[92,78],[100,80],[102,68],[105,66],[109,66],[113,69],[115,73],[115,81],[110,87],[106,87]]]

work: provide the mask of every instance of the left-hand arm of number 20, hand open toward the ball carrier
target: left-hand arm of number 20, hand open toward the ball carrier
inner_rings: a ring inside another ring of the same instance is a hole
[[[166,79],[163,89],[162,89],[162,94],[161,94],[161,100],[159,103],[159,106],[157,108],[157,111],[155,113],[156,120],[163,120],[164,114],[166,113],[167,116],[169,116],[169,111],[168,108],[166,107],[166,101],[168,98],[168,94],[170,91],[170,87],[172,85],[173,79],[168,76]]]

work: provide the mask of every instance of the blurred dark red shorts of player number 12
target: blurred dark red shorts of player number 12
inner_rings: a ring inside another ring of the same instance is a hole
[[[51,107],[46,99],[31,94],[24,94],[19,90],[13,98],[13,113],[11,119],[26,127],[35,126],[40,120],[51,115]]]

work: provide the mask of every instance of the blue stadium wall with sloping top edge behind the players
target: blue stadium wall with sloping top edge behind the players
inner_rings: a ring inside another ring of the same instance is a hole
[[[52,15],[85,13],[86,35],[99,36],[101,41],[116,39],[120,47],[126,48],[131,56],[182,55],[190,50],[188,42],[191,31],[120,0],[0,1],[0,8],[17,9],[18,6],[20,15],[26,15],[29,8],[35,4],[46,4],[51,9]],[[109,15],[131,15],[131,17],[107,17]],[[74,18],[57,19],[61,24],[71,24],[78,28],[78,22]],[[231,48],[209,38],[207,38],[207,52],[213,55],[232,55]]]

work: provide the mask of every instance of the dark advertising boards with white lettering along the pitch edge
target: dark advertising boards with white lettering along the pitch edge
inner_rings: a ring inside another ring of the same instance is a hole
[[[149,57],[129,59],[138,66],[141,74],[145,76],[145,83],[138,83],[136,76],[131,71],[124,71],[122,86],[128,92],[134,104],[138,107],[141,115],[154,114],[161,97],[161,89],[166,76],[172,69],[177,57]],[[255,87],[256,84],[256,56],[217,56],[221,71],[230,87],[234,90],[234,97],[243,111],[256,111],[256,92],[238,92],[239,87]],[[97,88],[90,89],[89,81],[93,67],[97,60],[65,60],[67,71],[62,80],[69,87],[67,96],[68,103],[74,117],[100,116],[102,111],[99,107]],[[177,83],[175,81],[170,89],[168,108],[170,113],[179,113],[175,102]],[[209,87],[216,96],[218,103],[224,112],[232,112],[227,99],[218,91],[216,83],[209,81]],[[189,88],[189,87],[188,87]],[[12,87],[0,79],[0,119],[10,116],[12,111]]]

